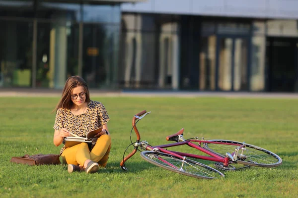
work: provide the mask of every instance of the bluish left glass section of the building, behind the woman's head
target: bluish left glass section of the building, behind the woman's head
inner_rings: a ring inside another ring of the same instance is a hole
[[[0,87],[61,89],[72,75],[113,88],[120,5],[0,0]]]

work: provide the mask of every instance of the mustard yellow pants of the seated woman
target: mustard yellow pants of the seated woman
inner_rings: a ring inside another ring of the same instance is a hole
[[[102,135],[98,138],[95,146],[90,151],[87,143],[81,143],[66,148],[61,154],[62,162],[74,165],[84,165],[85,160],[90,159],[97,162],[99,166],[105,167],[108,162],[111,149],[111,137]]]

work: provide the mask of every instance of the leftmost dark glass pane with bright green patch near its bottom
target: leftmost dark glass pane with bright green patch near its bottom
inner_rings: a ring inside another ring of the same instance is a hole
[[[30,87],[32,22],[0,20],[0,87]]]

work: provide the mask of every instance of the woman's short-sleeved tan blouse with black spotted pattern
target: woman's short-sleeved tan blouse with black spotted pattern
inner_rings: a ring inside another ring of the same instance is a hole
[[[60,131],[66,128],[70,132],[78,136],[86,136],[86,133],[94,130],[110,120],[109,115],[101,102],[90,100],[87,104],[86,111],[79,115],[74,115],[71,109],[60,107],[57,109],[54,129]],[[92,139],[92,146],[98,138]],[[65,141],[63,140],[63,144]],[[65,146],[61,148],[60,155],[64,151]]]

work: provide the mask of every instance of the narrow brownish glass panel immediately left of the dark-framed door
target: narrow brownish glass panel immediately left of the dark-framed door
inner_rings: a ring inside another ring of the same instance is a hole
[[[215,90],[216,36],[202,37],[200,53],[200,90]]]

